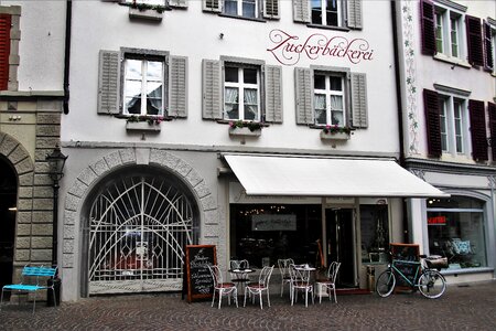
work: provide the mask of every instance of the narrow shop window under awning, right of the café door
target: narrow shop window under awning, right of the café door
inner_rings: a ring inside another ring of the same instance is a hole
[[[387,263],[389,221],[387,204],[360,205],[362,263]]]

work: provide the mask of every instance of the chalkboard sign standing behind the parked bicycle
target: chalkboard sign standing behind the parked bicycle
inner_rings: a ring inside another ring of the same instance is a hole
[[[389,244],[395,266],[411,281],[414,282],[416,273],[420,261],[420,250],[417,244]],[[398,261],[399,260],[399,261]],[[409,286],[403,277],[397,275],[398,286]]]

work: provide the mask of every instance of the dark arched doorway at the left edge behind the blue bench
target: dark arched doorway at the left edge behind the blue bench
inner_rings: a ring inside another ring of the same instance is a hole
[[[0,156],[0,287],[12,284],[18,177],[12,164]]]

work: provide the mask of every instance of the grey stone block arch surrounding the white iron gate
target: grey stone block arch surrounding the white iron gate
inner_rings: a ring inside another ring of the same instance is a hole
[[[196,199],[200,212],[201,238],[204,244],[218,245],[218,210],[205,179],[187,162],[170,151],[153,148],[129,148],[111,152],[84,169],[69,186],[64,205],[63,268],[77,264],[77,218],[91,189],[99,179],[127,166],[154,166],[181,178]],[[223,253],[220,253],[222,255]]]

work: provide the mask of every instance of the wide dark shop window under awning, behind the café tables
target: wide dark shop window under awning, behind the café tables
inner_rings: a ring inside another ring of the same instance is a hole
[[[321,205],[230,205],[230,258],[250,266],[277,265],[279,258],[317,264]]]

